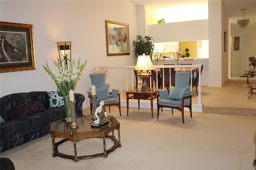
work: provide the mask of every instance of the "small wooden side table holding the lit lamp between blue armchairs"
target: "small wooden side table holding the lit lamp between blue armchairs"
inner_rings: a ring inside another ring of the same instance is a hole
[[[157,97],[157,92],[158,92],[157,89],[150,89],[148,92],[139,91],[139,89],[136,89],[135,91],[133,90],[126,91],[127,116],[129,112],[129,99],[138,99],[139,110],[140,110],[140,99],[147,99],[147,100],[150,100],[151,102],[151,115],[153,118],[153,99]]]

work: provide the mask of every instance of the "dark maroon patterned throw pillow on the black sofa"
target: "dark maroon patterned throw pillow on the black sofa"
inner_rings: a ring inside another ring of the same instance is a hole
[[[34,113],[45,112],[46,110],[44,109],[41,100],[38,99],[30,103],[15,105],[14,111],[16,112],[18,117],[25,117]]]

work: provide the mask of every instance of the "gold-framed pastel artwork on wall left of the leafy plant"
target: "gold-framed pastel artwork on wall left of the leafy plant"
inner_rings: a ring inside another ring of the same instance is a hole
[[[106,20],[107,56],[130,55],[129,25]]]

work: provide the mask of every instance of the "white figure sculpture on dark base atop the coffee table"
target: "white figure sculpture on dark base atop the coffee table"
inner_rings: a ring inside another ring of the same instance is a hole
[[[109,123],[109,118],[107,116],[103,100],[99,102],[99,106],[96,108],[94,116],[96,118],[94,117],[95,120],[93,120],[91,127],[102,127]]]

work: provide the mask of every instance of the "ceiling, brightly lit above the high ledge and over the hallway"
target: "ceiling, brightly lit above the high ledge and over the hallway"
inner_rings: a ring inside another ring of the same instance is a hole
[[[208,19],[208,0],[130,0],[136,6],[144,5],[148,14],[168,22]],[[242,8],[245,8],[244,19],[250,19],[246,28],[256,28],[256,0],[223,0],[231,23],[243,19]],[[233,24],[232,24],[233,25]],[[237,26],[239,29],[239,27]]]

